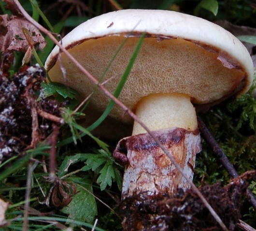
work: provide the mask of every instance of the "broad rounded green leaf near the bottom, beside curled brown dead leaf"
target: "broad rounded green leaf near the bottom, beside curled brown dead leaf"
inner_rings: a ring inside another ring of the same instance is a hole
[[[71,203],[61,211],[69,214],[71,219],[92,223],[97,215],[97,205],[91,182],[82,178],[71,178],[71,180],[77,187],[77,193],[73,196]]]

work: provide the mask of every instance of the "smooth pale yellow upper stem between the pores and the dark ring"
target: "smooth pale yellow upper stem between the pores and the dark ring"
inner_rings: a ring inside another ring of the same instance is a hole
[[[190,97],[182,93],[151,94],[143,97],[136,107],[136,116],[152,131],[165,128],[198,128],[197,115]],[[132,135],[146,133],[134,122]]]

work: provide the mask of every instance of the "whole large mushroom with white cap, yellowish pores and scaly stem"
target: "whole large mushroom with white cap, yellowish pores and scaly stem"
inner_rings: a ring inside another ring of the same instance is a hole
[[[62,39],[69,52],[104,86],[114,92],[142,34],[139,55],[119,100],[132,109],[169,150],[192,179],[200,152],[196,110],[207,110],[245,93],[254,67],[242,43],[220,26],[183,13],[162,10],[121,10],[92,18]],[[125,42],[124,40],[127,39]],[[102,77],[119,46],[108,71]],[[52,81],[62,82],[84,99],[95,88],[64,53],[55,47],[45,68]],[[66,68],[63,77],[60,66]],[[90,101],[89,111],[102,112],[103,92]],[[133,121],[114,106],[116,126]],[[175,193],[188,183],[151,136],[135,121],[130,137],[119,141],[114,155],[125,163],[123,198],[140,192]]]

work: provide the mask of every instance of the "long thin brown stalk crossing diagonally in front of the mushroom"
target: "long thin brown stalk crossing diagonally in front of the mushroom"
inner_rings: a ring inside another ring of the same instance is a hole
[[[142,128],[144,128],[148,134],[156,141],[157,145],[163,150],[163,152],[170,158],[171,162],[173,165],[177,168],[177,170],[183,175],[185,180],[189,183],[191,188],[196,192],[196,194],[199,196],[199,198],[202,200],[203,204],[207,207],[209,212],[212,214],[213,218],[218,222],[220,227],[224,231],[228,231],[226,225],[223,223],[221,218],[217,215],[217,213],[214,211],[213,207],[208,203],[208,201],[204,198],[204,196],[199,192],[198,188],[196,185],[193,183],[192,180],[190,180],[184,173],[183,169],[180,167],[180,165],[175,161],[175,159],[172,157],[172,155],[169,153],[169,151],[162,145],[162,143],[156,138],[156,136],[152,133],[151,130],[149,130],[143,123],[142,121],[126,106],[124,105],[121,101],[119,101],[117,98],[114,97],[114,95],[107,90],[103,85],[100,84],[100,82],[93,77],[58,41],[57,39],[52,35],[50,31],[45,29],[43,26],[41,26],[38,22],[36,22],[31,16],[23,9],[23,7],[20,5],[18,0],[14,0],[15,5],[17,6],[18,10],[23,14],[23,16],[34,26],[36,26],[39,30],[41,30],[44,34],[46,34],[50,39],[54,41],[54,43],[60,48],[60,50],[65,53],[65,55],[73,62],[82,72],[87,76],[95,85],[98,85],[100,90],[104,92],[106,96],[108,96],[110,99],[114,101],[118,106],[120,106],[126,113],[129,114],[134,120],[136,120]]]

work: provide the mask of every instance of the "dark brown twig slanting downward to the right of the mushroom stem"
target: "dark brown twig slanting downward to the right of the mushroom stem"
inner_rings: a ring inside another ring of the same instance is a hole
[[[203,122],[200,116],[198,116],[198,125],[205,141],[207,141],[211,146],[214,156],[221,162],[223,167],[225,167],[225,169],[228,171],[229,176],[231,178],[239,177],[239,174],[237,173],[236,169],[230,163],[223,149],[220,147],[218,142],[214,139],[213,135],[211,134],[209,129],[206,127],[205,123]],[[253,192],[247,189],[246,196],[248,201],[251,203],[251,205],[256,209],[256,198]]]

